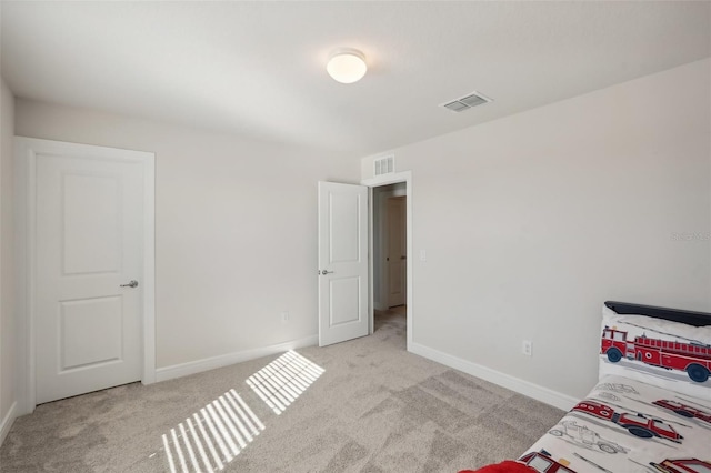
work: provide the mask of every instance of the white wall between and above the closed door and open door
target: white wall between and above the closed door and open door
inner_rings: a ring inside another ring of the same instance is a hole
[[[158,368],[317,334],[317,181],[357,159],[19,99],[16,133],[156,152]]]

